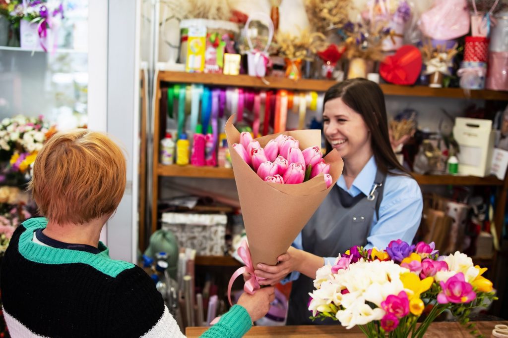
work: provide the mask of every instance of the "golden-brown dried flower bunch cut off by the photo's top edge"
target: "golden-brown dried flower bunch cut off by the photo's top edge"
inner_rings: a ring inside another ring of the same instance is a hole
[[[341,28],[349,21],[351,0],[305,0],[305,11],[315,31]]]

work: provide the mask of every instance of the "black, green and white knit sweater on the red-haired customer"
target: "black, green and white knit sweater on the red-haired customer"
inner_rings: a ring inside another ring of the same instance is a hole
[[[152,280],[139,267],[100,253],[33,241],[46,228],[31,218],[16,229],[1,270],[4,315],[13,337],[183,336]],[[239,337],[251,326],[234,306],[205,337]]]

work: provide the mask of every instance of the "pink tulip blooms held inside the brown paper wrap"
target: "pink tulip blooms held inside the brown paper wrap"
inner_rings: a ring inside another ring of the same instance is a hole
[[[280,134],[263,148],[247,132],[240,134],[240,143],[233,144],[238,155],[265,181],[298,184],[324,174],[326,187],[332,185],[330,165],[323,160],[321,148],[315,145],[302,151],[299,146],[293,136]]]

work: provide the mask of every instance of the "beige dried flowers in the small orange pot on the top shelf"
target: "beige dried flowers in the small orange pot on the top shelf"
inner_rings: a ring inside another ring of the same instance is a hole
[[[326,36],[320,32],[311,33],[308,29],[296,36],[291,33],[278,32],[278,54],[288,59],[309,59],[309,55],[328,47]]]

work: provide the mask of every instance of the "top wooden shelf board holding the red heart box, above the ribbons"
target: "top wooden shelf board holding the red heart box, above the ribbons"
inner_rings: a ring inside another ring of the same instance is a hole
[[[330,80],[291,80],[266,77],[265,81],[248,75],[224,75],[205,73],[186,73],[181,71],[161,71],[159,81],[171,83],[204,84],[216,86],[239,86],[265,89],[315,90],[326,91],[335,81]],[[380,85],[385,95],[444,97],[459,99],[481,99],[508,101],[508,92],[493,90],[463,90],[461,88],[430,88],[427,86]]]

